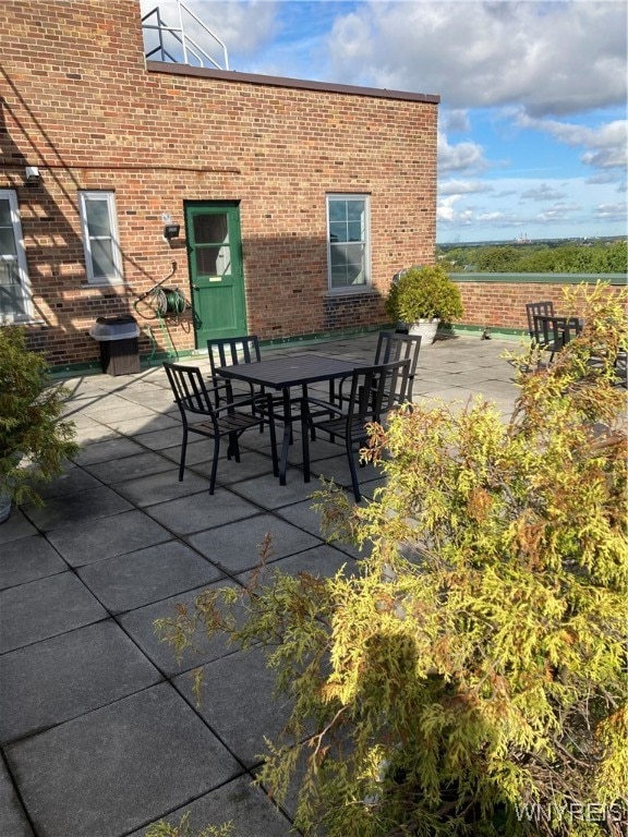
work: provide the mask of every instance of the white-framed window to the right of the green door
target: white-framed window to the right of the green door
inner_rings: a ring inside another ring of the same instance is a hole
[[[329,290],[371,286],[371,203],[369,195],[327,195]]]

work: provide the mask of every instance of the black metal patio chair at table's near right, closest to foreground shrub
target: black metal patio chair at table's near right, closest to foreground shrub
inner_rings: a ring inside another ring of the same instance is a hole
[[[362,495],[355,469],[354,448],[358,446],[359,450],[366,444],[366,425],[370,422],[382,422],[390,410],[406,402],[410,366],[411,360],[407,357],[355,369],[351,378],[351,391],[346,411],[337,402],[327,402],[317,398],[302,399],[301,437],[303,475],[306,483],[311,478],[307,430],[323,430],[333,441],[338,436],[345,439],[353,495],[355,501],[360,502]]]

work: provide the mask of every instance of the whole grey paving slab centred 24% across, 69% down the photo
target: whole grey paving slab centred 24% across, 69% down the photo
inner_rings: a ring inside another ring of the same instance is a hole
[[[78,569],[78,575],[111,614],[216,581],[222,573],[179,541],[148,546]]]

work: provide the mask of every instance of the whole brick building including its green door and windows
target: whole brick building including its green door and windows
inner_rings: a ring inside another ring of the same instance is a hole
[[[375,328],[433,260],[437,96],[146,60],[135,0],[0,26],[0,323],[53,367],[98,364],[99,316],[154,357]]]

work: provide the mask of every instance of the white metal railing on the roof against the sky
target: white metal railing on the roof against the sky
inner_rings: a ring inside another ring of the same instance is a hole
[[[177,12],[178,26],[169,26],[166,23],[158,5],[142,17],[146,58],[159,56],[156,60],[169,61],[174,64],[213,65],[218,70],[229,70],[227,47],[220,38],[181,0],[177,0]],[[212,41],[214,48],[221,52],[221,62],[186,34],[184,24],[188,24],[189,31],[196,28],[203,39],[208,38]]]

